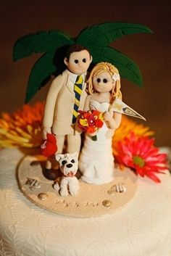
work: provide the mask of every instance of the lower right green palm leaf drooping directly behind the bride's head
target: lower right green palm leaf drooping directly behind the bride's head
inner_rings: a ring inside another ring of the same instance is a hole
[[[90,46],[93,56],[93,63],[109,62],[119,70],[122,78],[127,78],[131,82],[143,87],[143,79],[138,65],[132,59],[111,47]]]

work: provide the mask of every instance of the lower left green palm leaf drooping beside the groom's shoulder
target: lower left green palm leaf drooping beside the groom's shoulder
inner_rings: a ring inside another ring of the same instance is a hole
[[[44,54],[33,66],[25,96],[25,103],[36,94],[36,92],[43,86],[43,81],[50,78],[51,74],[57,70],[54,65],[54,53]]]

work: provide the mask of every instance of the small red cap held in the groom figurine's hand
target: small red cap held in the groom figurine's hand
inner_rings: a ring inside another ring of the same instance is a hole
[[[41,154],[45,157],[51,157],[57,152],[57,139],[54,134],[47,133],[47,139],[41,144]]]

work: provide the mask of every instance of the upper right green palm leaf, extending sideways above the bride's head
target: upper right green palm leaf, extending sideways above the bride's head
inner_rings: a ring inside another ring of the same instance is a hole
[[[78,35],[77,44],[83,46],[109,46],[112,41],[135,33],[153,33],[149,28],[140,24],[125,22],[106,22],[82,30]]]

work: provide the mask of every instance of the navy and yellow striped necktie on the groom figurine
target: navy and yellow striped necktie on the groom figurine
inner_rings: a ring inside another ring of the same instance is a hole
[[[80,95],[82,94],[82,89],[83,89],[82,86],[83,86],[83,77],[81,75],[78,75],[74,85],[75,104],[74,104],[73,115],[72,115],[72,123],[75,123],[78,116],[78,108],[80,106]]]

